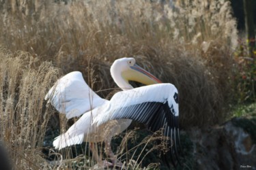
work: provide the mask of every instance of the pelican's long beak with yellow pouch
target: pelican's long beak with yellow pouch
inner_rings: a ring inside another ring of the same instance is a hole
[[[145,85],[162,83],[154,75],[139,67],[139,65],[130,66],[128,71],[122,72],[122,76],[127,81],[140,82]]]

